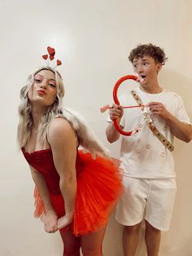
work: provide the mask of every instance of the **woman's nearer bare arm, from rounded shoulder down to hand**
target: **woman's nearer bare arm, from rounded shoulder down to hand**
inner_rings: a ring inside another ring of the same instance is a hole
[[[65,215],[59,219],[62,228],[72,222],[76,202],[76,134],[63,118],[50,124],[49,143],[55,168],[59,173],[59,188],[65,202]]]

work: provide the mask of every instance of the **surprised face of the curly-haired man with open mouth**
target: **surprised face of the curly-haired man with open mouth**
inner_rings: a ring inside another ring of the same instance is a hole
[[[134,72],[142,77],[141,86],[147,86],[157,81],[157,74],[162,65],[156,63],[150,55],[143,55],[140,58],[133,59]]]

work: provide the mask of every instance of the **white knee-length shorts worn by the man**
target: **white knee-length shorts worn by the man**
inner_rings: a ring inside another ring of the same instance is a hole
[[[136,179],[124,176],[124,195],[116,206],[116,220],[124,226],[143,218],[159,230],[168,231],[175,201],[175,179]]]

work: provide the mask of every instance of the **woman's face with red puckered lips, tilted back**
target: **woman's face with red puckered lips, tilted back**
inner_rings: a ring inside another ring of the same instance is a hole
[[[55,73],[43,69],[34,76],[34,83],[28,90],[30,104],[49,107],[54,104],[57,95]]]

